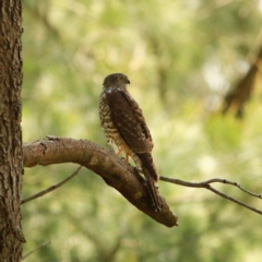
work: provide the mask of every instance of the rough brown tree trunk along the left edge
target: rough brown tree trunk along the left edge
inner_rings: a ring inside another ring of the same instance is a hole
[[[0,261],[21,261],[22,3],[0,1]]]

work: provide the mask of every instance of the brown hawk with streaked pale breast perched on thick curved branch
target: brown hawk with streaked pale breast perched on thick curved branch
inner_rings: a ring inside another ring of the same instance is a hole
[[[143,112],[127,90],[130,81],[122,73],[109,74],[103,83],[99,99],[100,123],[107,143],[117,155],[122,151],[128,162],[132,157],[136,167],[142,170],[153,201],[155,211],[160,211],[156,182],[159,179],[151,152],[153,141]]]

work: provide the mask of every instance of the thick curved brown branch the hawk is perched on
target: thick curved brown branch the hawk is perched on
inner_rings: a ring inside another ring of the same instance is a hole
[[[136,169],[114,153],[87,140],[52,138],[23,145],[24,167],[75,163],[99,175],[105,182],[119,191],[130,203],[167,226],[177,226],[178,217],[159,195],[162,211],[155,212],[148,190]]]

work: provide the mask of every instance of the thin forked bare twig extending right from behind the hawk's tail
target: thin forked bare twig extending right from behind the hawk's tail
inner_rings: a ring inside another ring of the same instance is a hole
[[[236,200],[225,193],[222,193],[221,191],[214,189],[213,187],[211,187],[210,184],[211,183],[214,183],[214,182],[221,182],[221,183],[226,183],[226,184],[230,184],[230,186],[234,186],[234,187],[237,187],[239,188],[241,191],[252,195],[252,196],[255,196],[255,198],[259,198],[259,199],[262,199],[261,194],[257,194],[257,193],[253,193],[253,192],[250,192],[248,191],[247,189],[243,189],[239,183],[237,182],[233,182],[233,181],[229,181],[229,180],[226,180],[226,179],[222,179],[222,178],[213,178],[213,179],[210,179],[210,180],[206,180],[206,181],[202,181],[202,182],[188,182],[188,181],[183,181],[183,180],[180,180],[180,179],[176,179],[176,178],[167,178],[167,177],[163,177],[160,176],[159,178],[162,181],[166,181],[166,182],[171,182],[171,183],[176,183],[176,184],[180,184],[180,186],[184,186],[184,187],[190,187],[190,188],[205,188],[205,189],[209,189],[211,190],[212,192],[221,195],[222,198],[224,199],[227,199],[227,200],[230,200],[239,205],[242,205],[245,206],[246,209],[249,209],[260,215],[262,215],[262,211],[260,210],[257,210],[255,207],[252,207],[239,200]]]

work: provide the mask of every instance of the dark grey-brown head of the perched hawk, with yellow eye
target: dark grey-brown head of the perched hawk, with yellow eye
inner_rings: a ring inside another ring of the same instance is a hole
[[[127,84],[130,84],[130,81],[127,75],[122,73],[114,73],[105,78],[103,86],[105,90],[107,88],[126,90]]]

